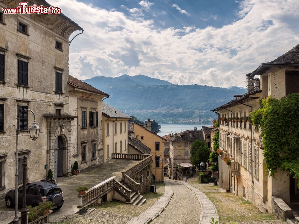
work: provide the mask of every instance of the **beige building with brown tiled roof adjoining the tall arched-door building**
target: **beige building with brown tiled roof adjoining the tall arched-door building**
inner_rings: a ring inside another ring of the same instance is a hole
[[[102,99],[108,94],[73,76],[68,76],[68,94],[70,114],[76,117],[71,131],[71,164],[77,160],[79,168],[84,169],[104,161]],[[61,141],[62,138],[58,137],[55,143],[59,145]],[[59,155],[59,149],[57,153]],[[61,162],[59,157],[55,158],[58,158],[55,165]],[[54,168],[54,175],[57,175],[56,170]]]

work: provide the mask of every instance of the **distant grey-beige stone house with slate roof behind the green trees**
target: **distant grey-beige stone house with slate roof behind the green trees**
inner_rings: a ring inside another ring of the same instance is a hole
[[[176,165],[181,163],[190,163],[190,149],[192,143],[198,139],[200,141],[210,142],[210,129],[202,127],[202,130],[186,130],[181,133],[171,133],[169,139],[169,162],[168,172],[171,179],[177,178]]]

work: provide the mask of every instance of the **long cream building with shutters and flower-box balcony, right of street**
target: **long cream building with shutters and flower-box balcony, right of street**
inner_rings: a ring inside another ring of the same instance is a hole
[[[275,198],[289,203],[291,198],[298,197],[298,180],[280,169],[275,178],[268,177],[260,144],[260,128],[248,122],[229,120],[250,116],[249,113],[259,108],[260,99],[264,97],[271,95],[280,99],[289,93],[298,93],[298,54],[299,45],[277,59],[261,64],[246,75],[247,93],[235,95],[236,99],[213,110],[219,113],[221,120],[219,145],[224,151],[219,157],[219,187],[252,202],[260,210],[264,208],[273,212],[276,217],[279,217],[277,213],[283,212],[277,207]],[[260,79],[256,78],[258,75]],[[231,165],[223,161],[224,157],[231,157]]]

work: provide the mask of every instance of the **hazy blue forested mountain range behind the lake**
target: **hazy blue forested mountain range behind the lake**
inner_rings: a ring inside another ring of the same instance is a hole
[[[216,117],[211,109],[234,99],[235,94],[246,92],[245,88],[236,86],[174,85],[144,75],[96,76],[83,81],[108,93],[105,102],[129,115],[165,121],[168,118],[210,121]]]

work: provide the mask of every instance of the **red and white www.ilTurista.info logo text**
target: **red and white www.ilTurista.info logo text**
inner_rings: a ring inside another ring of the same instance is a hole
[[[44,7],[43,5],[28,6],[28,2],[20,2],[17,8],[3,8],[3,14],[60,14],[61,8],[52,6]]]

